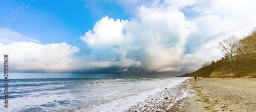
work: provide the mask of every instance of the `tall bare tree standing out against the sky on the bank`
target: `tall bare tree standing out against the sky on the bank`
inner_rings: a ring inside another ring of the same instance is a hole
[[[238,42],[239,38],[236,37],[236,35],[231,35],[228,38],[223,39],[222,41],[218,41],[218,49],[230,55],[231,66],[234,50],[237,47]]]

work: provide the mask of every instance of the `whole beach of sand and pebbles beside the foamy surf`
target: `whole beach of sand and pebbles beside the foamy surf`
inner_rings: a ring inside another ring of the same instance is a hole
[[[256,78],[194,78],[127,111],[256,111]]]

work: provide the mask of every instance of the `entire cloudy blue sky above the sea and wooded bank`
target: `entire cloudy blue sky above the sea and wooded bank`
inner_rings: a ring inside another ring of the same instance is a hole
[[[0,2],[0,53],[20,73],[191,72],[223,56],[217,41],[242,38],[256,26],[254,4],[6,0]]]

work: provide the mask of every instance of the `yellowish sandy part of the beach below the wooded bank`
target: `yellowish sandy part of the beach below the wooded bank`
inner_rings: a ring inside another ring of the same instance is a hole
[[[194,96],[184,101],[186,111],[256,111],[256,78],[189,79]]]

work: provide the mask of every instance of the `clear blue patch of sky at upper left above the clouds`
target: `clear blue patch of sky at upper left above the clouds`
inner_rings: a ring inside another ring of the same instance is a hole
[[[1,18],[11,18],[12,9],[17,12],[25,3],[24,13],[14,23],[1,20],[2,28],[9,28],[32,37],[43,44],[73,42],[75,34],[82,35],[93,28],[97,20],[108,15],[111,18],[127,19],[129,13],[110,1],[1,1]],[[113,9],[113,8],[114,9]]]

